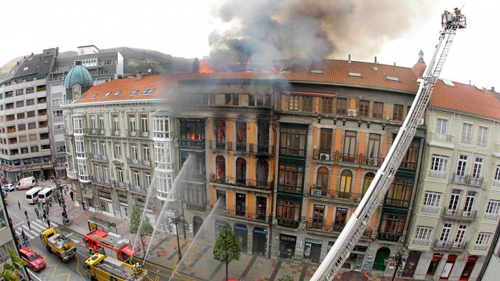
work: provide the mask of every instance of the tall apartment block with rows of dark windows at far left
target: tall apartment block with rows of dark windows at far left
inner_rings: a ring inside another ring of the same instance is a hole
[[[57,56],[57,48],[29,55],[1,83],[0,161],[6,181],[54,175],[46,75]]]

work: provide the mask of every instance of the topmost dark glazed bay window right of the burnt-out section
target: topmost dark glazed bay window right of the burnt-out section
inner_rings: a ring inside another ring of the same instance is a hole
[[[280,155],[305,157],[305,137],[308,130],[299,128],[298,126],[294,126],[294,128],[281,127]]]

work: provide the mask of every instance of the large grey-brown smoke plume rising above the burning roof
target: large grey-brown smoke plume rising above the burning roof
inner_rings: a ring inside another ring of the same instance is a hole
[[[218,71],[246,70],[299,57],[313,63],[353,53],[376,55],[381,45],[407,32],[424,13],[419,1],[228,0],[214,8],[230,28],[209,37],[209,64]]]

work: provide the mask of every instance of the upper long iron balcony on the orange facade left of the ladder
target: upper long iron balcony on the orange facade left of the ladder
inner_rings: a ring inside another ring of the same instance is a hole
[[[335,151],[313,150],[313,159],[317,161],[338,163],[338,164],[356,164],[367,167],[379,167],[383,162],[381,157],[368,157],[366,155],[346,154]]]

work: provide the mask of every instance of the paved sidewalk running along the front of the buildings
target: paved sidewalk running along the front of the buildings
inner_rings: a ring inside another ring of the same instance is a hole
[[[135,235],[129,233],[129,221],[122,221],[118,218],[112,218],[103,214],[98,214],[93,211],[83,211],[80,207],[74,205],[71,201],[70,195],[65,196],[67,210],[73,223],[66,226],[75,233],[85,235],[88,233],[87,221],[92,218],[98,218],[110,223],[117,224],[117,232],[125,239],[130,240],[132,243]],[[53,205],[51,208],[51,220],[56,223],[62,224],[62,217],[60,211],[58,212],[58,204]],[[182,235],[181,235],[182,236]],[[194,244],[189,240],[180,238],[180,248],[182,249],[183,261],[180,264],[177,273],[194,276],[200,280],[224,280],[225,279],[225,264],[213,260],[212,252],[213,246],[204,243],[203,240],[195,242]],[[149,240],[148,240],[149,241]],[[147,261],[156,263],[166,268],[173,268],[177,261],[178,250],[175,247],[176,236],[169,233],[157,233],[154,241],[150,247],[150,255]],[[138,246],[138,245],[136,245]],[[239,261],[232,261],[229,264],[229,275],[232,279],[242,280],[266,280],[277,281],[283,275],[290,275],[296,281],[310,280],[317,269],[316,264],[312,263],[295,263],[294,261],[287,261],[282,259],[266,259],[263,256],[254,256],[249,254],[242,254]],[[391,277],[379,277],[367,275],[361,278],[353,279],[350,271],[345,271],[338,274],[335,280],[368,280],[368,281],[382,281],[392,280]],[[346,275],[342,278],[342,275]],[[362,275],[362,273],[355,273],[355,275]],[[397,278],[397,280],[403,280]]]

